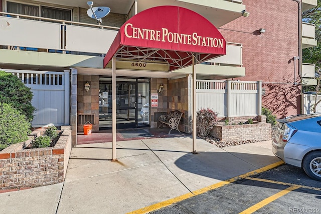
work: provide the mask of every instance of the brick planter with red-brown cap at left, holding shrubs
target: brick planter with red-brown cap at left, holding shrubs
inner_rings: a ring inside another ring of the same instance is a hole
[[[23,149],[24,143],[0,151],[0,190],[64,181],[71,152],[71,130],[64,130],[54,147]]]

